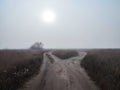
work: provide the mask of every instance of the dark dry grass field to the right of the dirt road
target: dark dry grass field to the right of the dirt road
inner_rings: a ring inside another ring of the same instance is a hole
[[[120,50],[90,50],[81,66],[101,90],[120,90]]]

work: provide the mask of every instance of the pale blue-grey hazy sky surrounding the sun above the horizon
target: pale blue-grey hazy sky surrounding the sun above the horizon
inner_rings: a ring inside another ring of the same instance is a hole
[[[45,23],[45,10],[55,13]],[[120,0],[0,0],[0,48],[120,48]]]

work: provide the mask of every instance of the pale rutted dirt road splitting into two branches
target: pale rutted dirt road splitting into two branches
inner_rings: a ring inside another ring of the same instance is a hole
[[[98,90],[80,66],[86,53],[78,53],[77,57],[65,60],[60,60],[52,52],[45,53],[39,74],[22,90]]]

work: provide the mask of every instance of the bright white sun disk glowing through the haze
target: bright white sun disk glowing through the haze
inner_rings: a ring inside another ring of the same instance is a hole
[[[55,14],[52,11],[45,11],[42,15],[43,21],[47,23],[52,23],[55,20]]]

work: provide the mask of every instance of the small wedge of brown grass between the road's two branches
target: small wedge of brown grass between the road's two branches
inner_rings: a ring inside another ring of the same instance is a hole
[[[78,52],[76,50],[56,50],[53,54],[61,59],[78,56]]]

